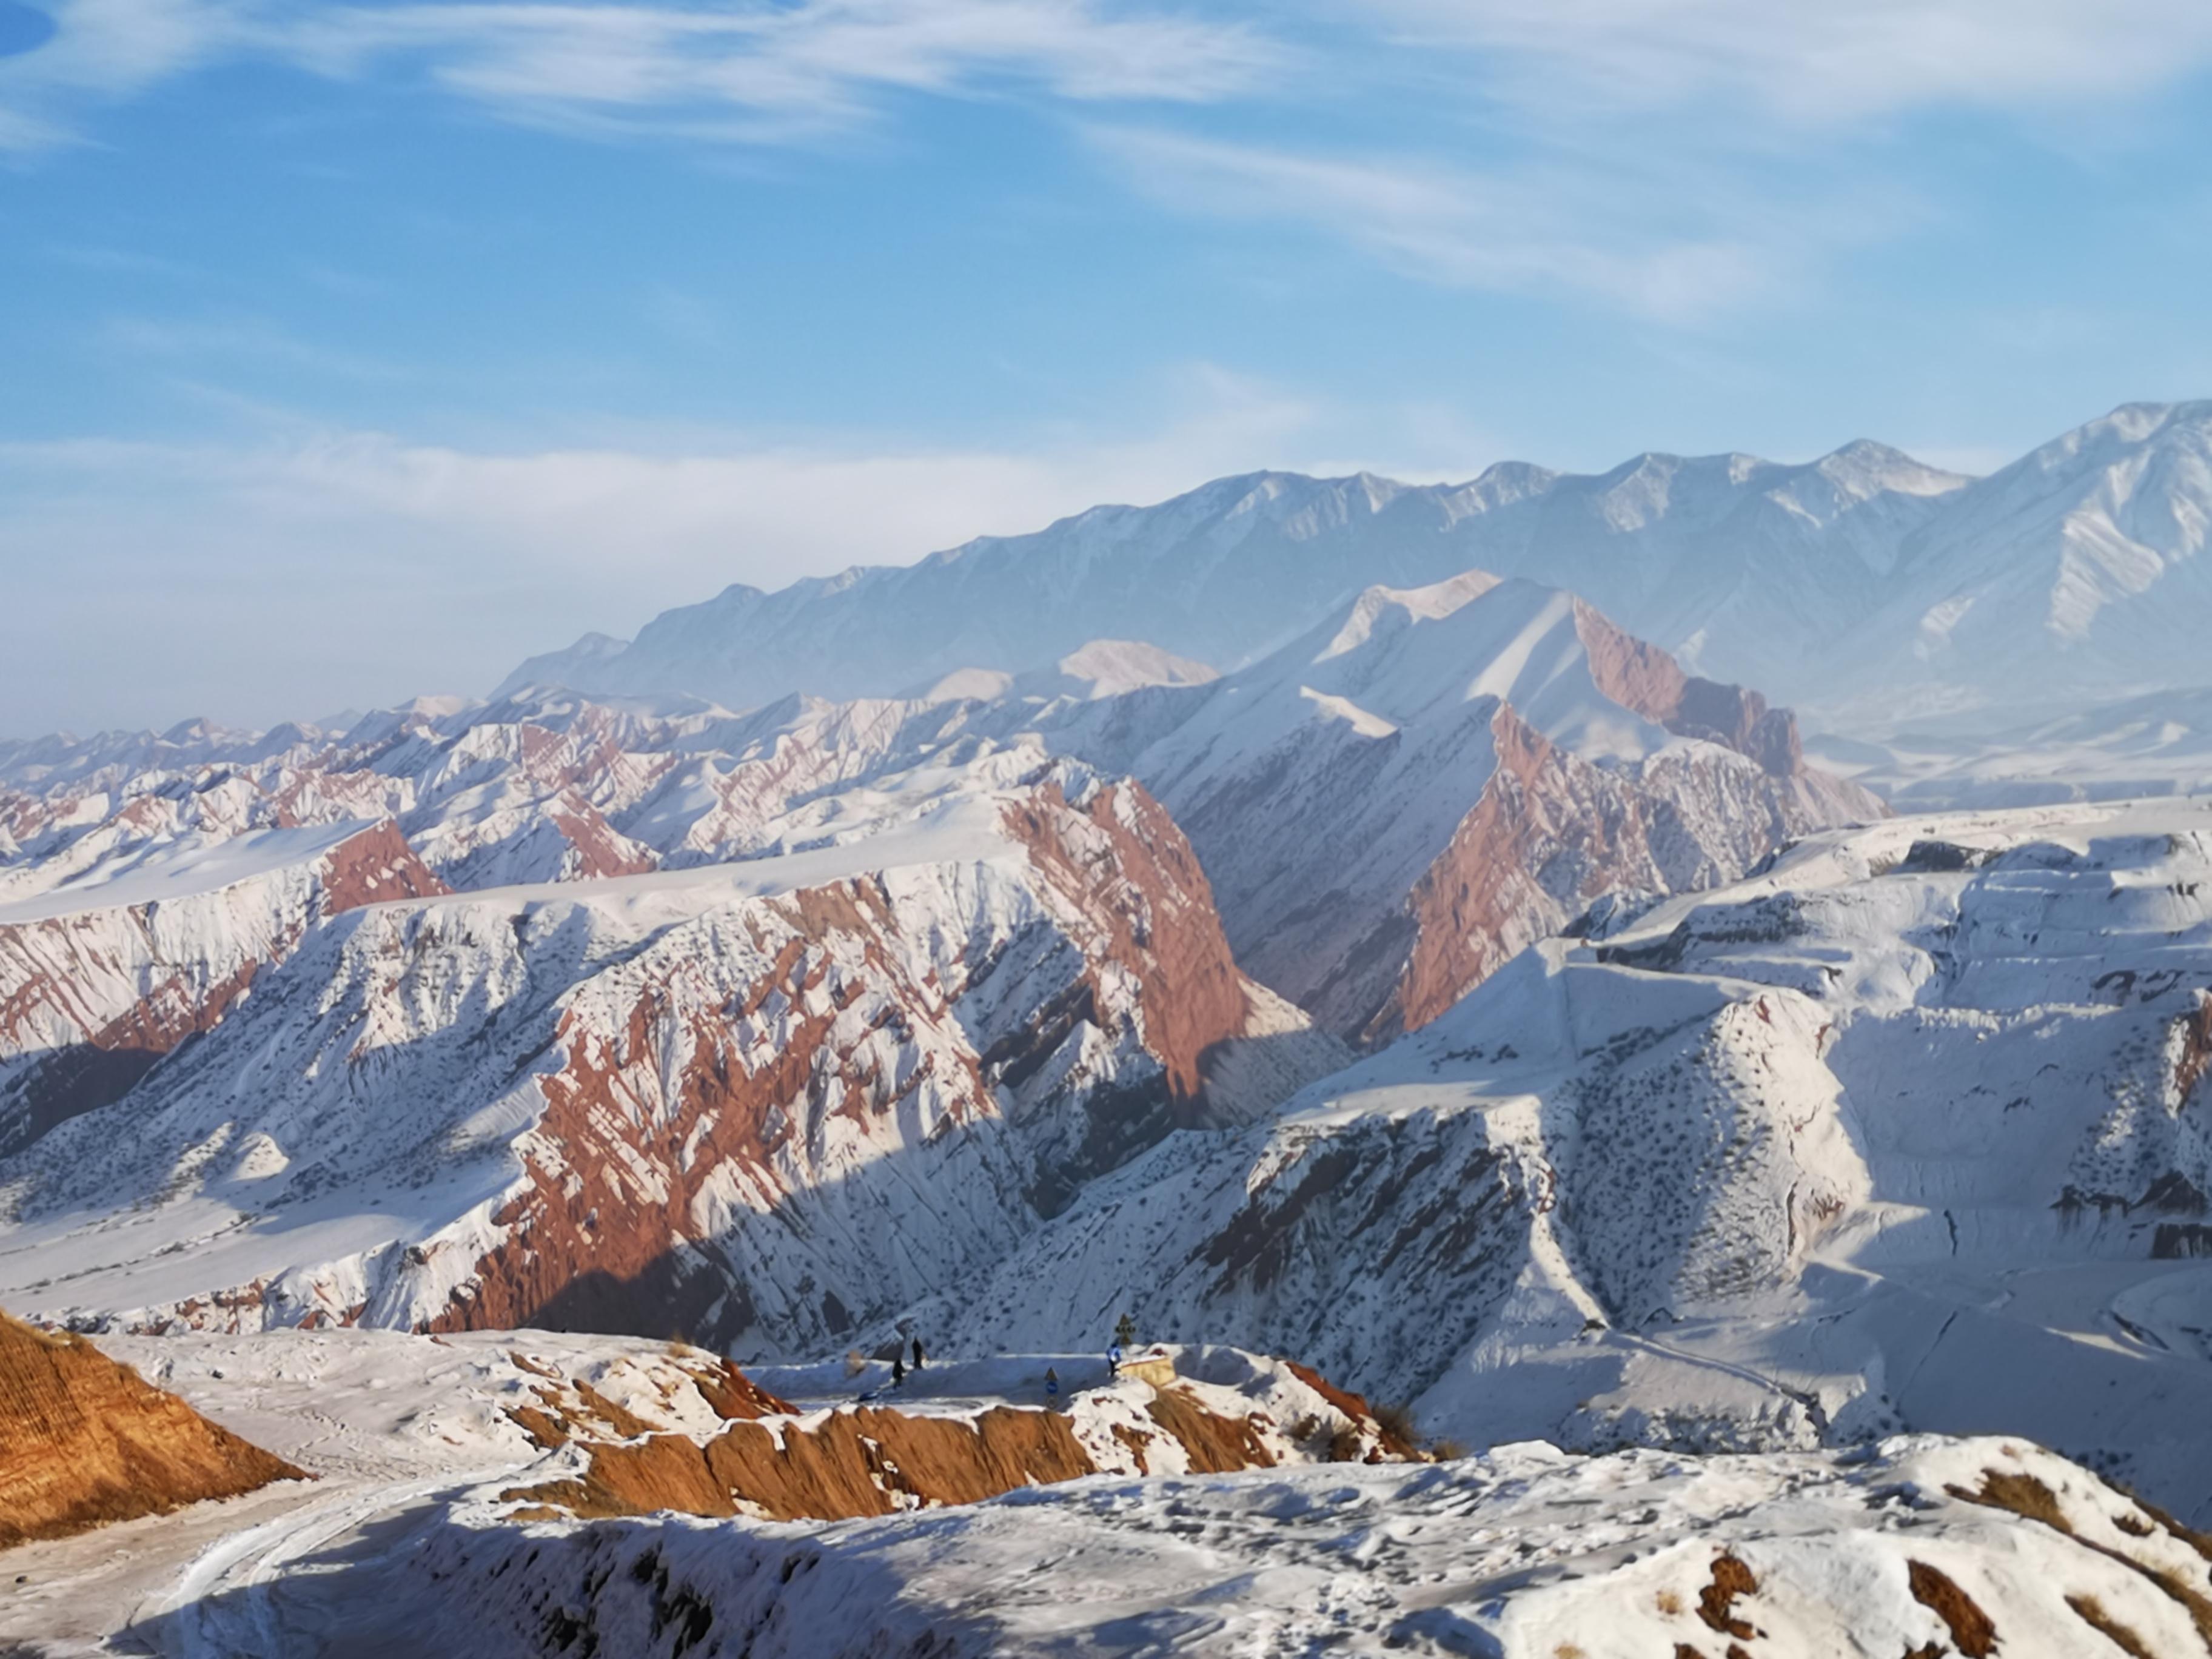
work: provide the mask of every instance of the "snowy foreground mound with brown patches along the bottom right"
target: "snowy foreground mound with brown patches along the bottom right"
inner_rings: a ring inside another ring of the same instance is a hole
[[[761,1659],[2081,1659],[2197,1652],[2212,1606],[2201,1535],[1997,1440],[1849,1462],[1509,1447],[1440,1469],[1091,1482],[805,1537],[458,1520],[425,1546],[431,1630],[487,1659],[544,1652],[549,1606],[597,1650],[723,1632],[721,1652]]]

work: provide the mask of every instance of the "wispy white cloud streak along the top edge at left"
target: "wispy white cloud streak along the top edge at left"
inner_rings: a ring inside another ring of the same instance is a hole
[[[51,144],[82,97],[126,97],[230,60],[416,73],[520,122],[726,139],[849,126],[894,93],[1212,100],[1283,60],[1243,22],[1095,0],[64,0],[55,15],[51,44],[0,64],[15,111],[0,144]]]

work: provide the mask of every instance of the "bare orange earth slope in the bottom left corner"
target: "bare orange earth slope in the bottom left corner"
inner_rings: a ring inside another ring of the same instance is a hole
[[[0,1314],[0,1548],[307,1480],[82,1336]]]

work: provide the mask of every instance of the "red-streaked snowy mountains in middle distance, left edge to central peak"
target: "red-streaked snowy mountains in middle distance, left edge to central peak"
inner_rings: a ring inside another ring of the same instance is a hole
[[[1880,812],[1754,692],[1482,573],[1225,679],[1071,664],[0,757],[0,1290],[816,1352],[1608,894]]]

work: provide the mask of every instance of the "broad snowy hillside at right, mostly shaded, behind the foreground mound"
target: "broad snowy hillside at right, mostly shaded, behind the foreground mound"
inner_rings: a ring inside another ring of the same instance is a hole
[[[2208,905],[2212,807],[1809,836],[1179,1135],[914,1316],[1029,1347],[1130,1301],[1469,1440],[2026,1433],[2203,1513]]]

